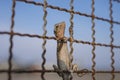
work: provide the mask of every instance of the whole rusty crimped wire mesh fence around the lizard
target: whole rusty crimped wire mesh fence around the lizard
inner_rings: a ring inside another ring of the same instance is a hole
[[[36,6],[42,6],[43,7],[43,12],[44,12],[44,16],[43,16],[43,21],[44,21],[44,24],[43,24],[43,35],[40,36],[40,35],[33,35],[33,34],[22,34],[22,33],[18,33],[18,32],[14,32],[14,23],[15,23],[15,20],[14,20],[14,17],[15,17],[15,6],[16,6],[16,1],[20,1],[20,2],[24,2],[26,4],[33,4],[33,5],[36,5]],[[118,2],[120,3],[119,0],[113,0],[115,2]],[[114,42],[114,37],[113,37],[113,34],[114,34],[114,31],[113,31],[113,24],[118,24],[120,25],[120,22],[118,21],[114,21],[113,20],[113,10],[112,10],[112,0],[109,0],[109,17],[110,19],[105,19],[105,18],[102,18],[102,17],[98,17],[98,16],[95,16],[94,15],[94,12],[95,12],[95,7],[94,7],[94,4],[95,4],[95,0],[92,0],[91,1],[91,15],[89,14],[86,14],[86,13],[81,13],[81,12],[77,12],[77,11],[74,11],[74,5],[73,5],[73,2],[74,0],[70,0],[70,10],[68,9],[65,9],[65,8],[61,8],[61,7],[58,7],[58,6],[53,6],[53,5],[49,5],[47,3],[47,0],[44,0],[44,3],[40,3],[40,2],[35,2],[35,1],[32,1],[32,0],[12,0],[12,15],[11,15],[11,26],[10,26],[10,32],[8,31],[0,31],[0,35],[9,35],[10,38],[9,38],[9,42],[10,42],[10,47],[9,47],[9,59],[8,59],[8,65],[9,65],[9,68],[8,70],[0,70],[0,73],[3,73],[3,72],[6,72],[8,73],[8,80],[12,80],[12,75],[11,73],[41,73],[41,78],[42,80],[46,80],[45,79],[45,73],[51,73],[51,72],[65,72],[65,71],[60,71],[60,70],[48,70],[45,68],[45,63],[46,63],[46,43],[47,43],[47,40],[50,39],[50,40],[56,40],[56,38],[54,36],[46,36],[47,34],[47,30],[46,30],[46,25],[47,25],[47,10],[46,8],[51,8],[51,9],[56,9],[56,10],[59,10],[59,11],[63,11],[63,12],[66,12],[66,13],[69,13],[70,14],[70,27],[69,27],[69,35],[70,37],[68,38],[68,41],[70,42],[70,56],[71,56],[71,63],[73,61],[73,50],[74,50],[74,47],[73,47],[73,43],[81,43],[81,44],[88,44],[88,45],[91,45],[92,46],[92,71],[74,71],[74,73],[92,73],[92,79],[93,80],[96,80],[95,79],[95,74],[96,73],[111,73],[112,75],[112,78],[111,80],[114,80],[115,79],[115,74],[114,73],[120,73],[120,71],[115,71],[115,67],[114,67],[114,63],[115,63],[115,60],[114,60],[114,48],[118,48],[120,49],[120,46],[117,46],[117,45],[114,45],[113,42]],[[91,38],[92,38],[92,42],[89,42],[89,41],[81,41],[81,40],[77,40],[77,39],[74,39],[74,32],[73,32],[73,25],[74,25],[74,22],[73,22],[73,18],[74,18],[74,14],[77,14],[77,15],[80,15],[80,16],[85,16],[87,18],[91,18],[91,23],[92,23],[92,26],[91,26],[91,30],[92,30],[92,35],[91,35]],[[101,21],[104,21],[104,22],[108,22],[110,24],[110,44],[103,44],[103,43],[96,43],[96,38],[95,38],[95,19],[97,20],[101,20]],[[43,44],[42,44],[42,48],[43,48],[43,53],[41,55],[42,59],[43,59],[43,62],[42,62],[42,70],[12,70],[12,57],[13,57],[13,37],[14,36],[20,36],[20,37],[30,37],[30,38],[39,38],[39,39],[43,39]],[[111,52],[111,68],[112,70],[111,71],[96,71],[95,70],[95,66],[96,66],[96,62],[95,62],[95,57],[96,57],[96,54],[95,54],[95,49],[96,49],[96,46],[101,46],[101,47],[110,47],[110,52]],[[72,77],[71,77],[71,80],[72,80]]]

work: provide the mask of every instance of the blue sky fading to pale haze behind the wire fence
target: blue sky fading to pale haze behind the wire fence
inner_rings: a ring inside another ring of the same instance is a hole
[[[42,0],[34,0],[43,2]],[[48,4],[70,9],[70,0],[47,0]],[[74,0],[74,11],[91,14],[91,0]],[[0,1],[0,31],[10,31],[12,0]],[[120,22],[120,4],[113,2],[113,20]],[[65,35],[69,37],[70,14],[47,8],[47,36],[54,36],[54,24],[65,21]],[[43,7],[17,2],[15,7],[14,31],[29,34],[43,34]],[[110,19],[109,0],[95,0],[95,16]],[[92,41],[91,18],[74,15],[74,38],[83,41]],[[95,19],[95,38],[97,43],[110,43],[110,23]],[[120,46],[120,25],[114,24],[114,45]],[[13,62],[21,67],[41,64],[42,39],[14,36]],[[69,44],[69,43],[68,43]],[[56,64],[56,41],[47,40],[46,44],[46,66],[52,67]],[[7,62],[9,50],[9,36],[0,35],[0,63]],[[68,45],[69,46],[69,45]],[[92,46],[87,44],[73,44],[74,63],[82,68],[91,69]],[[110,48],[96,46],[96,69],[110,70]],[[120,49],[114,49],[115,68],[120,70]]]

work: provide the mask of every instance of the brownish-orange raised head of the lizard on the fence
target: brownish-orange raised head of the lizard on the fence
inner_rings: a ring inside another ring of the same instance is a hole
[[[54,34],[58,40],[64,37],[65,22],[57,23],[54,27]]]

